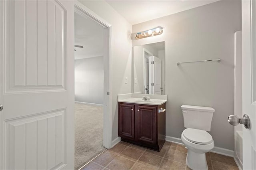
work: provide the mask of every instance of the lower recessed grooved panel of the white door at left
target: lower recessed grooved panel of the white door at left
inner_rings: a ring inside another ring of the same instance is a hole
[[[66,109],[6,121],[9,169],[62,166],[66,158],[65,121]]]

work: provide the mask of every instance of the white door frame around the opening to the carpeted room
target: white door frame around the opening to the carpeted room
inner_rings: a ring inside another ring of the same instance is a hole
[[[104,57],[104,110],[103,110],[103,146],[106,148],[112,147],[112,81],[111,81],[111,40],[112,40],[112,26],[100,16],[92,12],[89,8],[84,6],[82,3],[75,0],[74,12],[82,12],[92,20],[102,25],[104,28],[109,29],[109,42],[105,57]],[[72,82],[70,82],[72,83]],[[109,92],[109,95],[107,93]]]

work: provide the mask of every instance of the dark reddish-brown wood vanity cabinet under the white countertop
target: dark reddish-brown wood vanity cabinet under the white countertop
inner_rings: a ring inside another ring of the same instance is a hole
[[[165,142],[165,103],[142,105],[118,102],[118,136],[122,141],[160,151]]]

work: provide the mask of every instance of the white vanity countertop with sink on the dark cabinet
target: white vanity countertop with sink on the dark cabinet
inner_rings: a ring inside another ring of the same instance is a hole
[[[160,106],[166,103],[167,100],[164,99],[150,99],[150,100],[142,100],[142,98],[130,97],[127,99],[118,99],[118,102],[124,103],[134,103],[134,104],[143,104],[143,105],[157,105]]]

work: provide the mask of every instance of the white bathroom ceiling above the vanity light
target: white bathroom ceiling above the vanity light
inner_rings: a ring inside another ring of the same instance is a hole
[[[130,24],[138,24],[219,0],[106,0]]]

